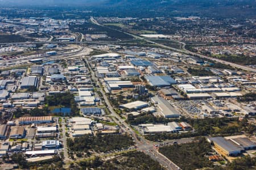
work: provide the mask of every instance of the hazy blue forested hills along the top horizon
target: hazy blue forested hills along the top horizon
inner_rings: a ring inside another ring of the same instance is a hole
[[[256,18],[255,0],[0,0],[0,6],[84,8],[104,16]]]

